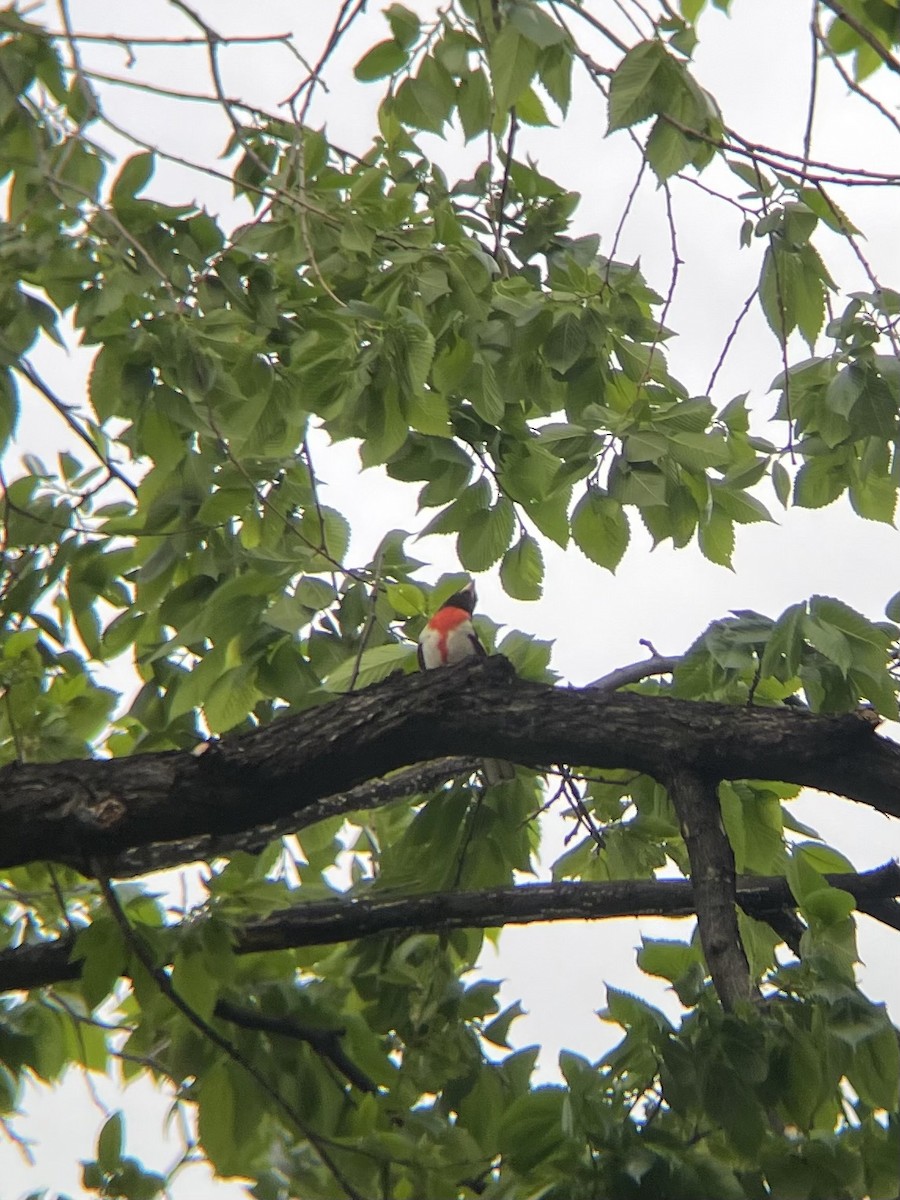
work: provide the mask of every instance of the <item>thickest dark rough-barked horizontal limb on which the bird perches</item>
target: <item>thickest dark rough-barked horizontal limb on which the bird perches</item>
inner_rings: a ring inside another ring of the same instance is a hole
[[[0,772],[0,868],[89,862],[160,841],[229,835],[391,770],[448,755],[772,779],[900,816],[900,746],[870,714],[822,716],[664,696],[553,688],[505,659],[397,676],[331,704],[211,743],[203,754],[10,764]]]

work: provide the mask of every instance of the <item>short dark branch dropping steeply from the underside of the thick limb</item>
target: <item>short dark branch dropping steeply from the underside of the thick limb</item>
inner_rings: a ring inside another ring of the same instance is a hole
[[[700,941],[722,1008],[750,1000],[750,964],[738,930],[734,852],[722,824],[716,781],[678,769],[666,781],[691,864]]]

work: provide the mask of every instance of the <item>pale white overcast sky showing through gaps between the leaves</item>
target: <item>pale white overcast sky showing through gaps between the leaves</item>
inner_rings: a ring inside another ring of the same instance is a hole
[[[418,7],[430,8],[424,4]],[[588,7],[611,25],[622,28],[610,0],[589,0]],[[55,7],[46,8],[48,23],[59,28]],[[204,0],[197,8],[223,35],[299,30],[301,49],[314,60],[338,5],[336,0],[266,0],[251,10],[244,0]],[[720,102],[726,121],[745,137],[800,152],[806,119],[810,6],[805,0],[733,0],[733,8],[730,19],[710,11],[701,22],[697,78]],[[164,0],[131,6],[110,0],[72,0],[71,10],[73,25],[82,30],[193,32]],[[632,36],[628,29],[622,32],[626,38]],[[379,95],[379,85],[364,88],[352,79],[352,66],[368,46],[384,36],[386,25],[376,6],[350,31],[335,56],[326,74],[331,92],[313,110],[313,124],[328,120],[330,136],[348,149],[361,150],[367,144],[371,113]],[[594,56],[614,64],[614,52],[598,46]],[[85,46],[83,54],[86,62],[101,70],[127,73],[121,50]],[[293,90],[300,70],[286,50],[246,46],[223,50],[223,67],[230,96],[270,109]],[[167,86],[208,90],[203,50],[139,50],[131,74]],[[880,86],[884,89],[888,82],[880,80]],[[174,154],[216,164],[228,131],[224,119],[211,106],[198,106],[187,120],[181,106],[148,101],[137,91],[101,89],[101,96],[110,113],[139,136]],[[528,145],[541,169],[582,192],[577,229],[601,233],[601,248],[608,250],[634,182],[637,160],[626,134],[606,142],[604,128],[599,96],[582,84],[565,130],[528,131],[517,151],[521,154]],[[827,67],[821,71],[812,151],[815,157],[845,164],[900,170],[900,137],[884,121],[874,122],[858,101],[850,103],[845,86]],[[469,162],[478,161],[470,157],[474,152],[470,148],[469,158],[461,155],[460,175],[467,174]],[[478,152],[480,156],[480,149]],[[716,179],[722,178],[710,170],[703,181],[715,186]],[[178,168],[162,168],[151,191],[157,194],[162,191],[172,200],[202,199],[211,211],[222,215],[226,226],[236,211],[227,185]],[[884,274],[884,282],[896,287],[900,276],[896,202],[876,188],[845,192],[836,199],[865,230],[870,262]],[[674,182],[673,202],[685,265],[667,322],[679,331],[668,350],[670,364],[677,377],[702,392],[722,342],[756,282],[763,247],[757,242],[749,251],[739,251],[739,214],[708,200],[696,188]],[[668,241],[662,194],[652,182],[646,184],[625,226],[617,257],[640,256],[650,284],[665,293],[671,270]],[[822,248],[839,278],[851,280],[851,288],[868,288],[858,264],[835,239],[823,239]],[[800,347],[792,347],[792,353],[794,359],[804,356]],[[79,398],[85,373],[83,358],[48,353],[41,365],[65,398]],[[774,408],[774,396],[766,392],[780,368],[775,340],[762,317],[754,313],[736,338],[714,398],[724,403],[732,395],[749,390],[763,418]],[[23,449],[52,458],[56,445],[46,425],[37,424],[43,416],[43,409],[38,414],[37,407],[25,414],[20,442]],[[780,436],[781,432],[775,434]],[[320,454],[317,466],[334,486],[332,502],[352,520],[352,559],[370,557],[384,529],[394,526],[415,529],[422,523],[406,486],[374,472],[361,478],[361,486],[359,482],[344,486],[358,472],[353,448],[334,448],[328,458]],[[733,572],[707,563],[694,548],[676,553],[660,547],[648,553],[640,528],[634,530],[632,546],[616,576],[593,566],[575,548],[562,552],[545,546],[547,583],[539,604],[511,601],[499,588],[496,574],[491,574],[479,578],[481,608],[494,619],[538,637],[554,638],[553,666],[572,684],[586,683],[642,656],[640,638],[649,638],[661,653],[679,653],[709,620],[731,608],[756,608],[776,616],[788,604],[823,593],[839,595],[870,618],[883,614],[884,602],[900,590],[900,542],[894,529],[860,521],[845,502],[826,512],[793,510],[779,520],[780,524],[738,529]],[[414,553],[434,563],[434,575],[456,565],[452,541],[448,539],[415,544]],[[900,856],[900,823],[862,805],[809,794],[793,805],[793,811],[818,828],[826,840],[860,869]],[[558,844],[558,829],[550,829],[548,836]],[[552,854],[546,860],[551,862]],[[512,1036],[520,1045],[536,1042],[545,1045],[541,1058],[545,1074],[552,1075],[560,1045],[598,1056],[618,1039],[619,1031],[602,1025],[594,1015],[604,1004],[605,983],[640,991],[671,1007],[661,989],[654,988],[634,965],[640,928],[649,930],[652,936],[686,937],[691,922],[644,922],[638,926],[635,920],[619,920],[590,926],[510,929],[503,935],[499,955],[485,955],[485,973],[506,980],[503,1002],[522,1000],[528,1016],[514,1025]],[[863,986],[874,998],[887,1000],[898,1021],[900,980],[890,966],[896,960],[895,936],[860,918]],[[161,1140],[164,1103],[149,1094],[143,1085],[133,1086],[125,1096],[106,1082],[98,1086],[107,1108],[122,1106],[130,1116],[128,1153],[143,1158],[148,1166],[164,1169],[176,1157],[178,1145],[172,1141],[166,1146]],[[34,1120],[19,1121],[17,1128],[38,1139],[37,1166],[26,1168],[14,1147],[0,1142],[4,1195],[24,1195],[38,1187],[83,1195],[78,1158],[92,1150],[103,1120],[100,1109],[77,1078],[54,1093],[32,1090],[28,1109]],[[198,1169],[186,1172],[172,1195],[174,1200],[232,1200],[245,1193],[235,1183],[205,1182],[204,1172]]]

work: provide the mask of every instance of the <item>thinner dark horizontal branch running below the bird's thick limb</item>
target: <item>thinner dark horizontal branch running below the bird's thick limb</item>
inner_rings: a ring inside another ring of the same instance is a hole
[[[860,875],[828,875],[850,892],[862,911],[888,907],[900,928],[900,866],[888,863]],[[737,902],[762,920],[794,907],[780,876],[742,876]],[[695,912],[689,880],[620,880],[612,883],[528,883],[480,892],[439,892],[415,896],[377,895],[356,900],[296,904],[235,929],[238,954],[301,946],[330,946],[373,934],[446,932],[547,920],[602,920],[611,917],[690,917]],[[0,950],[0,992],[43,988],[78,979],[71,936]]]

